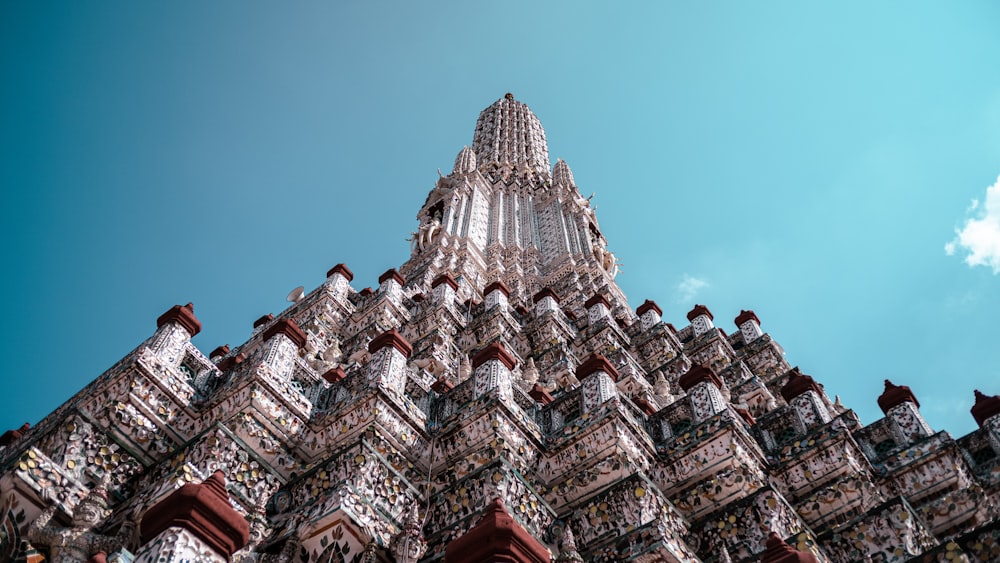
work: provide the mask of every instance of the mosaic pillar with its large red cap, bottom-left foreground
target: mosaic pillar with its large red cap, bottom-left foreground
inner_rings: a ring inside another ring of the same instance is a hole
[[[229,503],[222,471],[188,483],[146,511],[135,563],[225,563],[250,539],[246,518]]]

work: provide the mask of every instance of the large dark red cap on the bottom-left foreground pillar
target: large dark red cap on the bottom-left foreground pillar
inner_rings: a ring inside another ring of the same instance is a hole
[[[250,539],[246,518],[229,504],[222,471],[200,485],[184,485],[147,510],[142,517],[142,543],[173,527],[190,531],[227,558]]]

